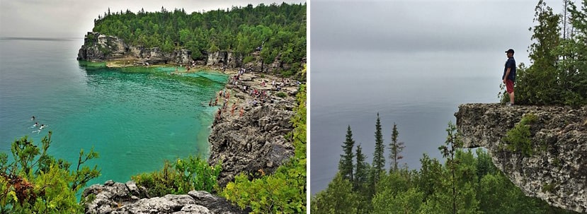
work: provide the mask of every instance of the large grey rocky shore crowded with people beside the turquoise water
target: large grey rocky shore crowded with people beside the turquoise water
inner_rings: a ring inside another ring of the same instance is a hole
[[[287,96],[278,97],[278,91],[269,83],[262,87],[260,79],[255,73],[246,73],[241,76],[237,87],[227,85],[232,97],[229,104],[239,103],[236,109],[244,109],[244,114],[239,116],[239,113],[232,115],[224,112],[212,124],[208,138],[208,162],[215,165],[222,161],[222,172],[218,178],[220,186],[226,186],[240,172],[273,173],[294,155],[291,141],[284,136],[293,129],[290,120],[294,115],[297,86],[294,83],[286,84],[280,92]],[[266,81],[269,79],[266,78]],[[249,102],[253,97],[249,96],[249,90],[246,93],[242,91],[243,85],[249,89],[268,91],[268,101],[263,105],[251,105]]]

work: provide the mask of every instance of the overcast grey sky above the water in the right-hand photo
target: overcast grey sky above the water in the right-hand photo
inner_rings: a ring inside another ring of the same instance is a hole
[[[562,0],[546,2],[555,13],[562,11]],[[336,64],[341,57],[329,57],[333,53],[355,54],[368,60],[377,58],[370,55],[381,59],[414,53],[467,57],[485,52],[498,54],[497,59],[490,60],[494,62],[505,59],[505,54],[499,53],[508,48],[516,50],[516,61],[528,64],[528,28],[535,25],[532,18],[536,5],[537,1],[530,0],[312,0],[312,66],[316,61],[319,68],[321,61],[324,66]]]

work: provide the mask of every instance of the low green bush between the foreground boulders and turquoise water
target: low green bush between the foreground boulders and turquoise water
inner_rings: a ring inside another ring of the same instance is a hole
[[[144,186],[149,196],[166,194],[187,194],[192,190],[212,191],[222,163],[210,166],[200,157],[178,158],[175,162],[165,161],[161,170],[132,176],[138,185]]]

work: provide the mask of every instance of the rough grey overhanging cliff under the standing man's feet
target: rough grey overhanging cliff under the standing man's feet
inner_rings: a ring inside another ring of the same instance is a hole
[[[530,157],[503,141],[524,114],[537,117],[530,124]],[[464,147],[489,150],[496,167],[526,195],[587,212],[587,107],[465,104],[455,117]]]

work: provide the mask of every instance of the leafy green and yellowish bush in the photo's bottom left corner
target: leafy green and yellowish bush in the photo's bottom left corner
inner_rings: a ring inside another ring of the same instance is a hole
[[[86,183],[100,175],[97,166],[90,169],[86,161],[98,157],[90,150],[79,153],[75,170],[71,164],[55,160],[47,153],[51,135],[42,138],[42,145],[35,145],[25,136],[11,145],[13,162],[0,153],[0,213],[81,213],[76,193]],[[81,169],[80,169],[81,167]]]

